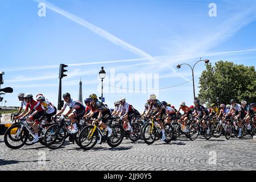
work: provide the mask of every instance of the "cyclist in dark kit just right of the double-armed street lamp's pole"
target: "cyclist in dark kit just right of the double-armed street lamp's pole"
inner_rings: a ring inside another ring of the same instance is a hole
[[[209,128],[207,128],[207,125],[206,125],[206,119],[209,116],[209,112],[203,105],[200,104],[200,100],[196,99],[194,101],[194,104],[195,104],[195,111],[193,116],[197,118],[197,123],[200,123],[200,119],[203,119],[202,125],[204,129],[206,129],[207,134],[209,134],[210,130]]]

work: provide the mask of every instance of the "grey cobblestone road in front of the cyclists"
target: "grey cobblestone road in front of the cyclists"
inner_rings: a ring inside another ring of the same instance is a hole
[[[11,150],[0,136],[0,154],[0,170],[256,170],[256,142],[250,137],[192,142],[181,136],[170,144],[156,141],[150,146],[124,139],[117,148],[104,143],[84,151],[68,142],[59,150],[40,144]],[[46,164],[40,164],[44,154]],[[216,164],[209,162],[215,154]]]

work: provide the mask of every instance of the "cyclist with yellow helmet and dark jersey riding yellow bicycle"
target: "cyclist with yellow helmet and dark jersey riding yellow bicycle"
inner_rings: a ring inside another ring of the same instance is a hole
[[[98,117],[96,119],[96,122],[100,122],[98,126],[103,127],[105,130],[108,130],[108,137],[110,137],[112,134],[112,129],[109,126],[112,124],[112,121],[108,121],[111,117],[109,108],[106,107],[106,105],[102,102],[98,101],[98,97],[94,93],[90,94],[89,100],[92,108],[98,110]],[[92,111],[89,117],[92,117],[93,114],[94,113]],[[98,141],[98,143],[100,143],[100,140]]]

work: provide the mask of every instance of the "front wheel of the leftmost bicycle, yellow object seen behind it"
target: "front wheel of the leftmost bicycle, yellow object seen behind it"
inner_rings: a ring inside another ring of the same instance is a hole
[[[4,140],[7,147],[18,149],[27,142],[28,133],[22,125],[13,125],[6,130]]]

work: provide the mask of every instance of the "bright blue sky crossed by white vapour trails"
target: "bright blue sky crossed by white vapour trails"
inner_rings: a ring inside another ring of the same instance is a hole
[[[46,17],[38,16],[39,2],[46,3]],[[112,82],[104,80],[112,86],[118,86],[119,76],[131,73],[158,73],[159,88],[187,82],[159,90],[158,97],[175,106],[181,101],[191,105],[191,70],[185,66],[177,70],[177,64],[193,64],[202,57],[213,64],[228,60],[255,66],[256,2],[214,1],[216,17],[208,15],[209,3],[1,0],[0,71],[5,72],[1,88],[14,88],[12,94],[4,95],[6,106],[18,106],[20,92],[43,93],[57,106],[61,63],[69,65],[63,93],[71,93],[74,99],[80,77],[83,98],[90,93],[100,96],[98,71],[104,66],[107,73],[115,69],[117,77]],[[204,63],[196,65],[196,87],[204,68]],[[154,92],[114,92],[104,97],[110,107],[119,97],[126,97],[142,111]]]

